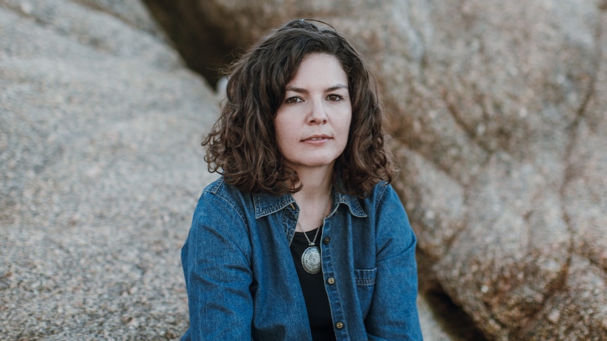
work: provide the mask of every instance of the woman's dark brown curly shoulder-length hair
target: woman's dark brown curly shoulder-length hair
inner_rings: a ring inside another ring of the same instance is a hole
[[[313,20],[316,21],[316,20]],[[377,84],[352,44],[334,30],[306,20],[288,22],[261,39],[228,70],[227,96],[220,118],[202,146],[210,172],[248,193],[294,193],[299,182],[284,165],[274,119],[286,86],[309,53],[335,56],[348,77],[352,120],[346,148],[335,162],[339,191],[365,198],[396,169],[384,144],[383,112]]]

